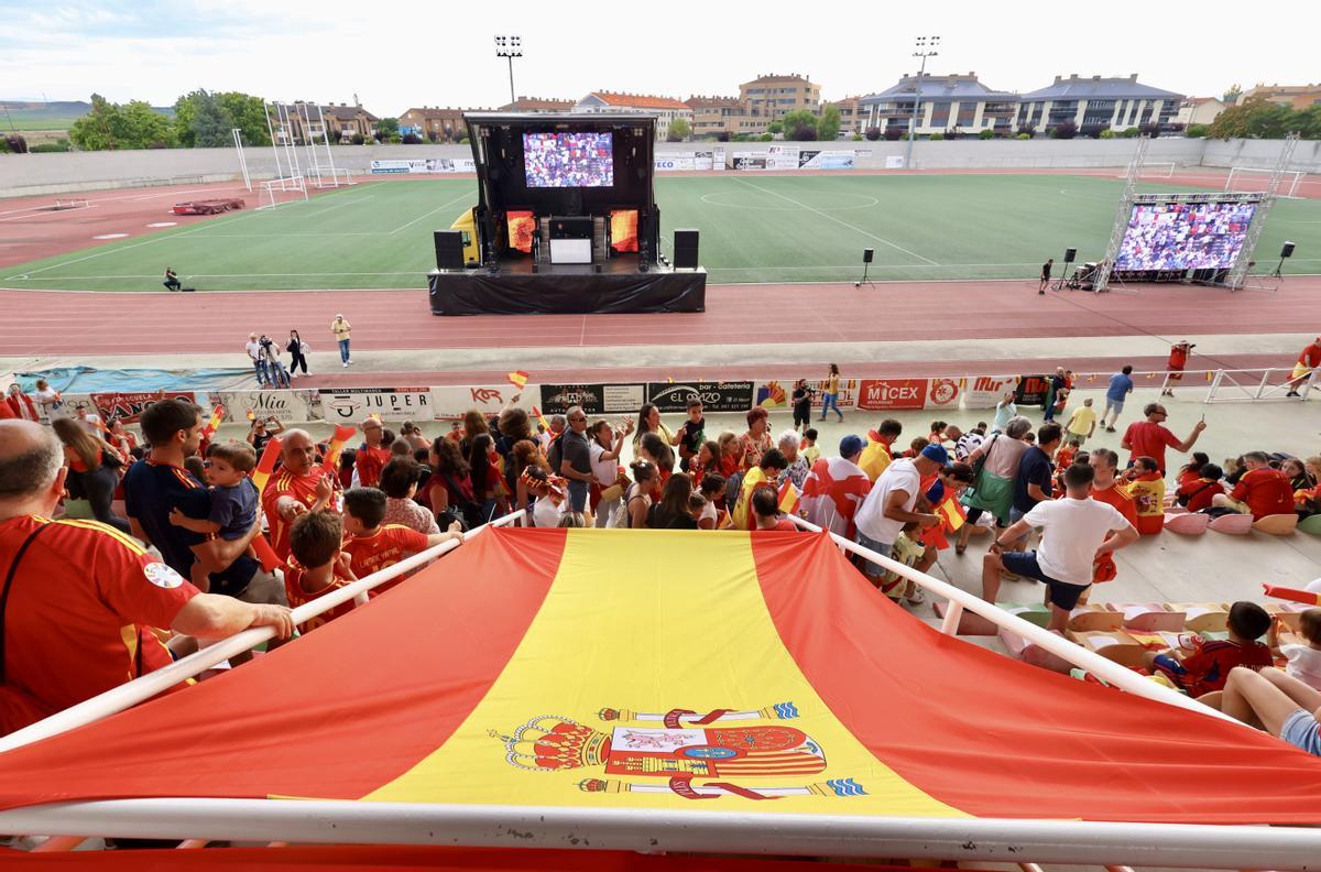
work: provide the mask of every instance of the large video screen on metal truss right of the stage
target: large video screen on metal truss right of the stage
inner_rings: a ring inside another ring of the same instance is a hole
[[[1116,270],[1227,270],[1243,250],[1256,203],[1137,203]]]

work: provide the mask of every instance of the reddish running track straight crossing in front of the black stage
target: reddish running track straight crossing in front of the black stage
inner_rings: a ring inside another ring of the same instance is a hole
[[[712,285],[695,314],[435,317],[427,292],[42,292],[0,289],[0,355],[240,353],[250,330],[292,328],[330,345],[337,312],[359,351],[461,347],[756,345],[734,361],[775,359],[781,342],[1057,338],[1151,334],[1296,333],[1314,329],[1321,276],[1293,276],[1275,293],[1193,285],[1139,285],[1136,293],[1036,293],[1036,283],[931,281]],[[1203,349],[1214,354],[1213,349]],[[1262,349],[1297,354],[1297,349]],[[884,355],[884,350],[877,350]],[[830,350],[822,349],[828,361]],[[1005,358],[1012,358],[1007,353]],[[1275,359],[1275,358],[1272,358]],[[618,361],[614,353],[602,365]],[[678,363],[678,362],[676,362]]]

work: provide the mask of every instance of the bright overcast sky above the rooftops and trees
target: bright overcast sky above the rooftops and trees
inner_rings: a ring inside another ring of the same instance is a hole
[[[1127,75],[1188,95],[1321,81],[1308,3],[556,3],[503,0],[0,0],[0,98],[170,104],[196,87],[351,102],[376,115],[509,99],[495,33],[523,37],[519,94],[610,89],[737,94],[761,73],[802,73],[826,99],[914,71],[913,38],[938,33],[927,71],[975,70],[1007,91],[1057,74]],[[1314,7],[1313,7],[1314,9]],[[1299,16],[1310,17],[1304,26]],[[1292,25],[1289,24],[1292,21]]]

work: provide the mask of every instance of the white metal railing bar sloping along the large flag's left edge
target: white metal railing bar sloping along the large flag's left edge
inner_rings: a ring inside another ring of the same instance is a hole
[[[468,542],[473,536],[480,535],[483,530],[486,530],[486,527],[502,527],[522,517],[523,511],[520,510],[505,515],[503,518],[497,518],[490,523],[474,527],[473,530],[465,532],[464,540]],[[435,548],[420,551],[411,558],[400,560],[392,567],[382,569],[380,572],[373,572],[353,584],[346,584],[342,588],[332,591],[330,593],[318,596],[316,600],[293,609],[293,622],[303,624],[304,621],[324,612],[329,612],[341,602],[347,602],[359,595],[366,595],[367,591],[388,581],[390,579],[403,575],[410,569],[416,569],[417,567],[429,563],[431,560],[435,560],[457,547],[458,543],[454,540],[443,542]],[[131,682],[120,684],[119,687],[112,687],[111,690],[83,700],[77,706],[70,706],[62,712],[57,712],[45,720],[40,720],[36,724],[24,727],[22,729],[17,729],[8,736],[0,736],[0,753],[12,750],[13,748],[21,748],[22,745],[29,745],[50,736],[57,736],[62,732],[74,729],[75,727],[83,727],[85,724],[114,715],[115,712],[131,708],[132,706],[151,699],[156,694],[160,694],[182,680],[201,675],[217,663],[227,661],[235,654],[248,651],[273,637],[275,629],[269,626],[259,626],[251,630],[243,630],[242,633],[235,633],[234,636],[203,647],[194,654],[189,654],[169,666],[164,666],[155,672],[140,675]]]

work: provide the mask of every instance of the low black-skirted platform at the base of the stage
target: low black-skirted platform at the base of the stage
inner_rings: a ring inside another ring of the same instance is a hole
[[[653,266],[638,272],[635,256],[614,258],[596,272],[589,264],[502,263],[499,272],[432,272],[432,314],[589,314],[704,312],[707,271]]]

